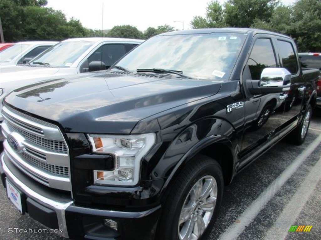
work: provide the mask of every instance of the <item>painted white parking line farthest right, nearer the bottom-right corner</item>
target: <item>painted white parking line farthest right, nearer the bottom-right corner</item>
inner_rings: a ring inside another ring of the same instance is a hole
[[[284,239],[289,233],[291,225],[299,216],[304,205],[312,195],[313,190],[317,187],[318,181],[321,179],[321,158],[312,167],[309,175],[300,185],[296,193],[292,196],[291,201],[283,209],[278,219],[274,222],[273,227],[267,232],[265,239]],[[319,176],[319,177],[318,177]]]

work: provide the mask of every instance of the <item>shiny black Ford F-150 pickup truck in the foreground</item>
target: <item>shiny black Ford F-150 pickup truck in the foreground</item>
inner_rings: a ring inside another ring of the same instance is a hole
[[[318,75],[273,32],[152,37],[108,70],[5,97],[4,187],[65,237],[202,239],[224,185],[282,138],[305,140]]]

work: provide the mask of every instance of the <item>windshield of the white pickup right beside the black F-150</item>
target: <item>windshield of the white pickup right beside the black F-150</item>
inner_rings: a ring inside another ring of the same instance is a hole
[[[46,63],[50,67],[69,68],[95,42],[73,41],[61,42],[41,53],[29,63]]]

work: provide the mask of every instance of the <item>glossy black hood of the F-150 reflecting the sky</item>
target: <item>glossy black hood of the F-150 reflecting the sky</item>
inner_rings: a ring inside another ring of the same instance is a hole
[[[142,119],[216,94],[221,82],[100,71],[14,90],[8,103],[65,132],[130,133]]]

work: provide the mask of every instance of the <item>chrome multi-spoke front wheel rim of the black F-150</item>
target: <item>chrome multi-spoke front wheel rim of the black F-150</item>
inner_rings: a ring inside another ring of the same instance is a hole
[[[212,176],[204,176],[194,184],[179,215],[180,240],[199,239],[212,219],[216,198],[217,184]]]

